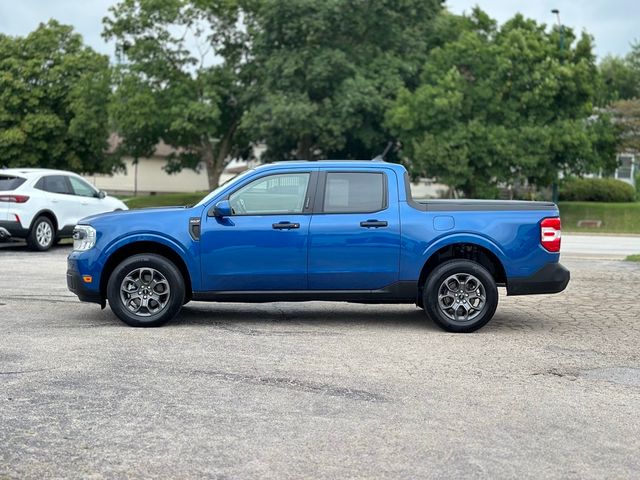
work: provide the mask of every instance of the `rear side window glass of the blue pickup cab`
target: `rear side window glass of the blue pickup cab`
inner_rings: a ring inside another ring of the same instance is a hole
[[[370,213],[386,207],[382,173],[327,173],[325,213]]]

